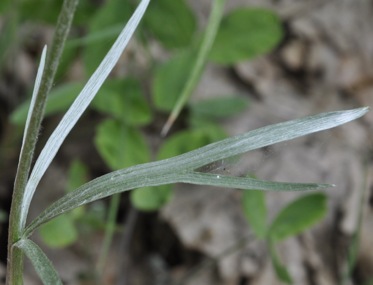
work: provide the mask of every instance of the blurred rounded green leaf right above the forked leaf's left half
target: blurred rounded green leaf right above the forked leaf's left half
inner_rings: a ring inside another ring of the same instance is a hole
[[[94,143],[111,169],[150,161],[150,150],[142,134],[118,120],[107,119],[100,123]]]

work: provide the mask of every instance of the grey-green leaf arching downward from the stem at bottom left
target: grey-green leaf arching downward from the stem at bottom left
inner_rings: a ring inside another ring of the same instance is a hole
[[[62,285],[56,269],[35,242],[29,239],[21,239],[13,246],[21,248],[23,253],[26,254],[44,285]]]

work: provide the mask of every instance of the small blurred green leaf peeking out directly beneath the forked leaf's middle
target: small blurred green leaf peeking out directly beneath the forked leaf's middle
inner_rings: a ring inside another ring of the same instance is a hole
[[[172,185],[142,187],[130,193],[132,205],[143,211],[153,211],[167,204],[172,198]]]

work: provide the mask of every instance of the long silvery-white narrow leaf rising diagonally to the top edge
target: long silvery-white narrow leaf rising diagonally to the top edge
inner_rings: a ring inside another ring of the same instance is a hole
[[[141,1],[135,13],[132,15],[131,19],[129,19],[127,25],[120,33],[110,51],[107,53],[100,66],[98,66],[91,78],[88,80],[87,84],[78,95],[68,112],[66,112],[65,116],[63,116],[61,122],[54,130],[45,147],[41,151],[41,154],[35,163],[35,167],[31,172],[30,179],[26,186],[25,195],[23,197],[20,222],[22,227],[25,225],[26,215],[28,212],[29,204],[31,202],[31,198],[32,195],[34,195],[36,186],[38,185],[41,177],[47,170],[47,167],[50,165],[53,157],[56,155],[63,140],[65,140],[66,136],[69,134],[70,130],[73,128],[84,110],[87,109],[89,103],[94,98],[94,95],[97,93],[98,89],[101,87],[106,77],[109,75],[109,73],[112,71],[113,67],[117,63],[120,55],[122,54],[122,51],[126,47],[138,23],[140,22],[149,1],[150,0]]]

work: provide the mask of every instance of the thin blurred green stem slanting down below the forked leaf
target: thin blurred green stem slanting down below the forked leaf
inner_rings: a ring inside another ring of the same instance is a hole
[[[103,274],[107,255],[109,254],[110,245],[112,244],[112,239],[113,239],[115,226],[116,226],[116,218],[118,216],[119,203],[120,203],[120,194],[114,194],[110,200],[109,215],[106,221],[104,241],[102,243],[100,256],[98,257],[97,266],[96,266],[97,273],[100,276],[102,276]]]

